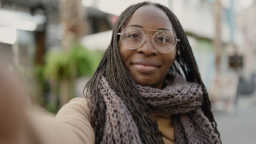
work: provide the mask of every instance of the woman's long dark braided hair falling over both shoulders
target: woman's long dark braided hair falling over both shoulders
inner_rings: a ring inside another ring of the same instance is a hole
[[[216,122],[211,111],[211,104],[206,87],[201,79],[192,49],[179,20],[174,13],[163,5],[141,2],[126,8],[126,10],[124,10],[118,17],[114,24],[111,44],[104,53],[97,70],[85,86],[85,89],[87,89],[85,97],[90,101],[88,102],[88,106],[90,107],[92,118],[91,126],[93,127],[96,136],[96,143],[100,143],[102,140],[106,122],[106,103],[98,88],[102,76],[106,77],[109,85],[114,89],[121,100],[124,101],[124,104],[126,104],[127,109],[130,111],[130,114],[138,127],[142,143],[163,143],[162,133],[157,127],[157,122],[148,106],[142,100],[134,80],[121,60],[118,50],[119,37],[117,33],[120,32],[121,26],[129,21],[129,18],[135,10],[143,5],[149,4],[156,5],[156,7],[159,7],[166,13],[171,20],[177,38],[180,39],[180,42],[177,44],[175,61],[171,65],[169,71],[172,71],[172,73],[175,74],[183,74],[187,81],[197,82],[202,85],[204,91],[202,109],[204,115],[206,115],[209,121],[212,122],[212,125],[219,136]]]

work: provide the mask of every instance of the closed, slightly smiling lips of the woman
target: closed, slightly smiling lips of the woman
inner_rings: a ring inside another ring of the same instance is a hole
[[[135,68],[136,71],[141,73],[153,73],[160,67],[157,62],[153,60],[146,60],[146,59],[138,59],[132,62],[132,66]]]

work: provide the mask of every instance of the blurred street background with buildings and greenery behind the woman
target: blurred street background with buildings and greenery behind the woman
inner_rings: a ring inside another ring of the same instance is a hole
[[[118,15],[135,0],[0,0],[0,60],[56,113],[84,97]],[[180,20],[222,143],[256,143],[256,1],[159,0]]]

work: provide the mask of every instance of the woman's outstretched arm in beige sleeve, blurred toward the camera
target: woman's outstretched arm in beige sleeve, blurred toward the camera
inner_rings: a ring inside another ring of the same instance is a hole
[[[56,117],[38,106],[26,106],[25,92],[0,68],[0,143],[95,143],[85,98],[74,98]]]

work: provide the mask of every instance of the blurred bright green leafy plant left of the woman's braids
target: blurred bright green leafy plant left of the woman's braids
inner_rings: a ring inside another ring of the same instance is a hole
[[[46,53],[44,74],[55,80],[79,76],[91,76],[99,64],[102,53],[75,44],[67,52],[49,50]]]

